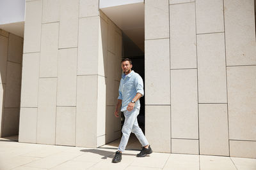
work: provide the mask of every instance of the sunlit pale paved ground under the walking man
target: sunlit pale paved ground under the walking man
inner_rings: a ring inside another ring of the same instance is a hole
[[[10,140],[11,139],[11,140]],[[111,163],[118,140],[101,148],[80,148],[72,146],[40,145],[18,143],[11,138],[0,138],[0,170],[39,169],[186,169],[186,170],[255,170],[256,159],[152,153],[148,157],[136,158],[138,141],[132,138],[123,153],[122,162]],[[154,148],[153,148],[154,149]]]

